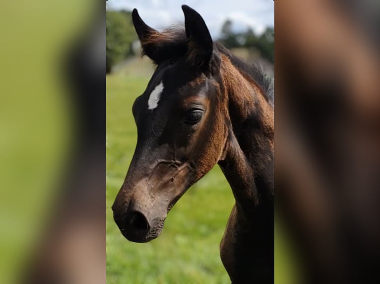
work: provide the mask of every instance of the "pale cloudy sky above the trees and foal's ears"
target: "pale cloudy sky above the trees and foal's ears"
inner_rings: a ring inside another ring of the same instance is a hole
[[[144,22],[157,30],[184,22],[182,4],[196,10],[204,19],[215,40],[220,35],[223,23],[230,19],[235,32],[252,28],[261,34],[265,27],[274,27],[273,0],[108,0],[108,9],[137,8]]]

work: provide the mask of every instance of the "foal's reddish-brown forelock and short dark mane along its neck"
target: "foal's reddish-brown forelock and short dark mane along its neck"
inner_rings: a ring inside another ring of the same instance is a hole
[[[192,58],[192,48],[188,47],[188,38],[183,26],[172,26],[162,32],[154,31],[147,38],[141,40],[142,47],[158,45],[162,57],[166,59],[187,55]],[[232,54],[230,50],[219,43],[214,42],[214,47],[226,55],[231,63],[240,71],[250,76],[253,81],[263,90],[269,104],[274,106],[274,79],[264,72],[261,64],[248,63],[242,58]],[[144,55],[144,48],[142,48]]]

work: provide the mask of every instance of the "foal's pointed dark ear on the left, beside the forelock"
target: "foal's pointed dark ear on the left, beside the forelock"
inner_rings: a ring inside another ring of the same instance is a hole
[[[141,43],[142,53],[157,63],[157,43],[152,39],[159,37],[160,33],[144,23],[136,8],[132,11],[132,21]]]

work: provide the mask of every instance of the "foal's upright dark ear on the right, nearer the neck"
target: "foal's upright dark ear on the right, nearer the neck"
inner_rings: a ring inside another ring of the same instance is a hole
[[[187,5],[182,5],[185,14],[185,29],[188,38],[188,60],[199,67],[209,67],[213,43],[203,18]]]

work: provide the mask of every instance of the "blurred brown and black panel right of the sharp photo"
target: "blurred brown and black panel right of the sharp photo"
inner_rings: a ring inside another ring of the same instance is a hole
[[[275,2],[278,284],[380,280],[379,19],[379,1]]]

